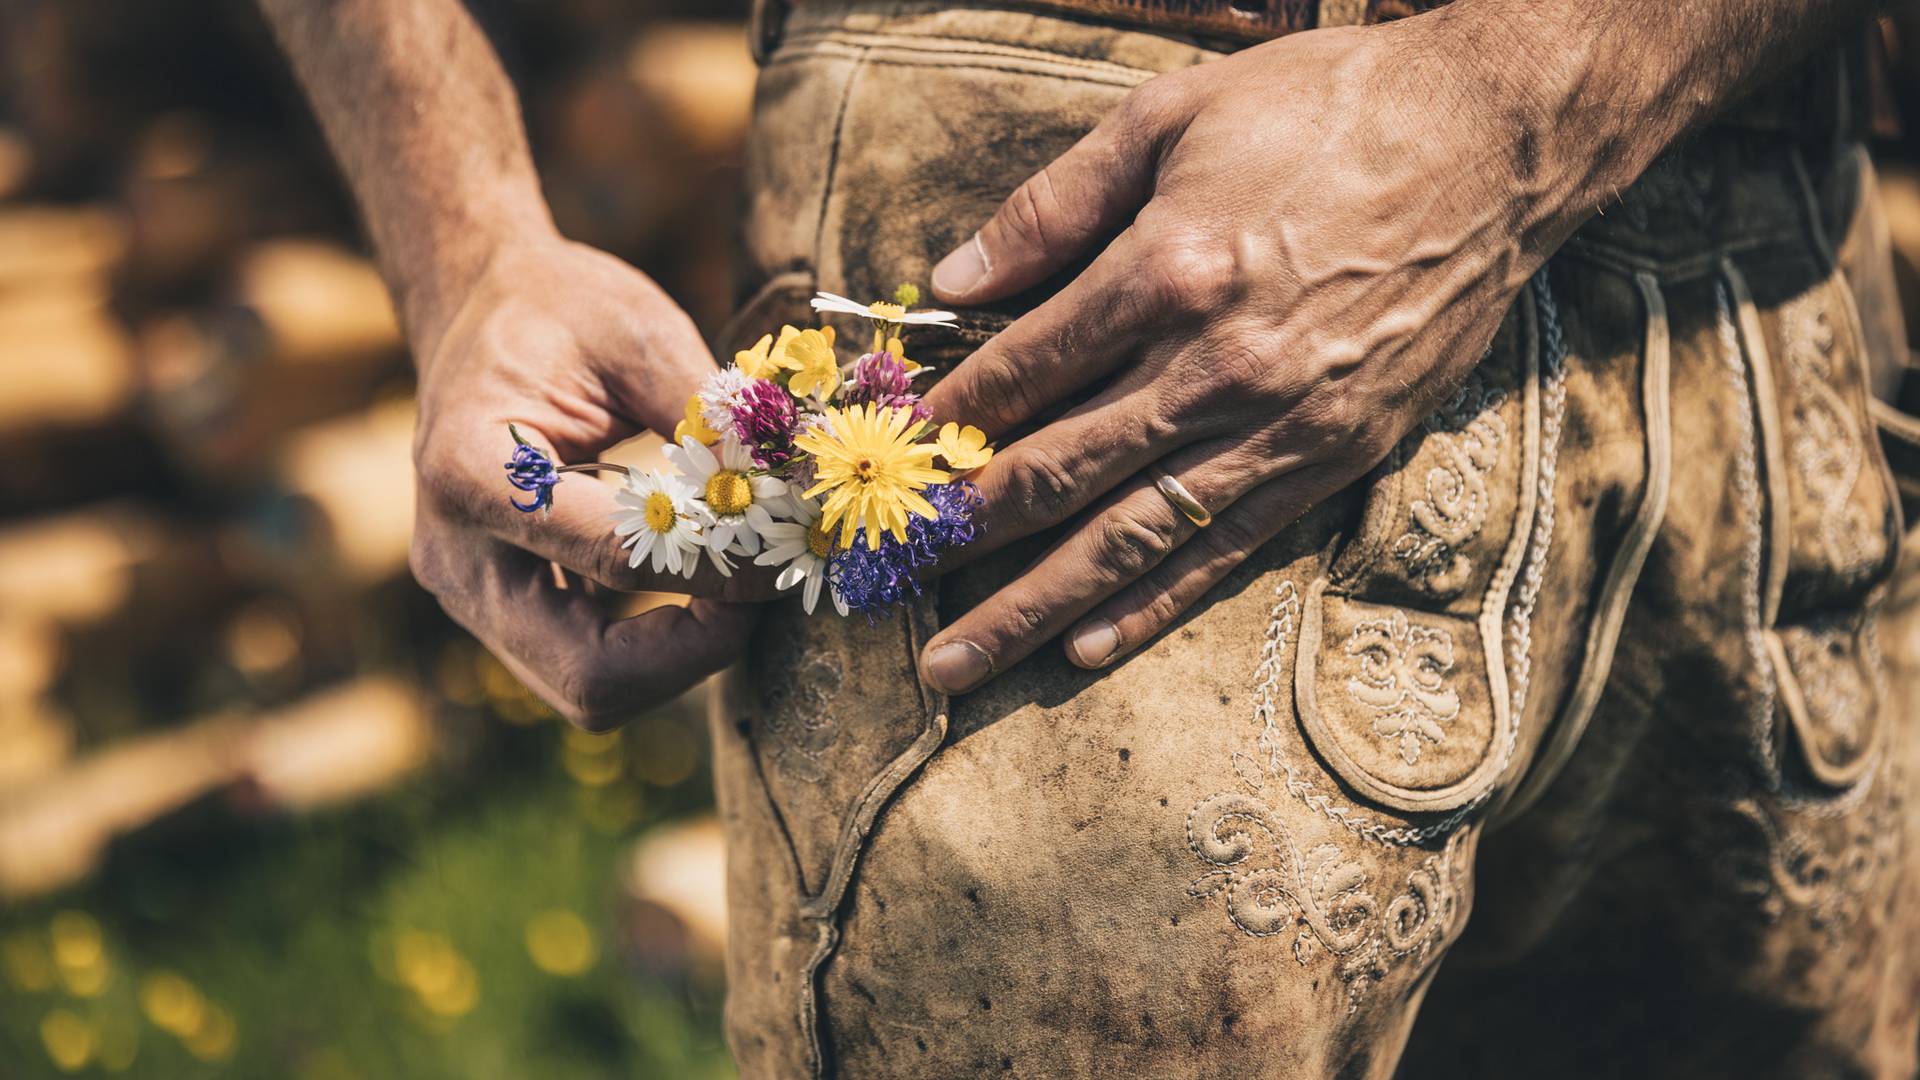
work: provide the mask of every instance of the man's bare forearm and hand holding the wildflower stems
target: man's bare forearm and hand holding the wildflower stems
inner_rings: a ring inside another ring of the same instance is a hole
[[[507,505],[507,421],[561,463],[670,432],[714,361],[651,281],[553,229],[513,85],[461,0],[261,0],[340,167],[420,369],[413,569],[568,721],[601,728],[726,665],[749,609],[612,619],[597,586],[722,596],[630,571],[591,477],[553,515]],[[735,571],[747,598],[768,573]]]

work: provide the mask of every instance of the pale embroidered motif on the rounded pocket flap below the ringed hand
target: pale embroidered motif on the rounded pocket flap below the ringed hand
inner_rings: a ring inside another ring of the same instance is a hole
[[[1425,744],[1446,742],[1444,724],[1459,717],[1459,694],[1446,678],[1453,671],[1453,634],[1417,626],[1394,609],[1386,619],[1357,623],[1344,651],[1357,661],[1346,696],[1371,715],[1373,734],[1400,744],[1407,765],[1419,763]]]

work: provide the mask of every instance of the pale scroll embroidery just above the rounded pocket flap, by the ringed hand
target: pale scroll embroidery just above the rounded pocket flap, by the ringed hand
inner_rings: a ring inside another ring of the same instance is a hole
[[[1461,548],[1486,527],[1486,477],[1500,465],[1507,421],[1500,405],[1505,390],[1488,388],[1478,373],[1421,421],[1423,446],[1440,459],[1427,469],[1421,498],[1407,505],[1411,521],[1392,552],[1413,582],[1434,594],[1465,588],[1473,559]]]

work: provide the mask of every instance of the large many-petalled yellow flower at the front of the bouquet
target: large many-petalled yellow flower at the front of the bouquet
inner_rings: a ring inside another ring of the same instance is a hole
[[[933,467],[935,446],[916,444],[925,421],[910,409],[874,404],[828,409],[828,423],[793,440],[814,455],[814,486],[806,498],[829,492],[822,505],[820,528],[841,527],[841,548],[866,528],[866,546],[879,548],[879,534],[906,542],[906,515],[939,519],[920,490],[945,484],[948,475]]]

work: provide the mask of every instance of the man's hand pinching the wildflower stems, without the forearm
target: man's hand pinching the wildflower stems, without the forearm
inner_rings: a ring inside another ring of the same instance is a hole
[[[593,461],[643,429],[670,434],[714,371],[687,315],[634,267],[561,238],[497,250],[449,309],[415,340],[419,582],[584,728],[618,726],[726,667],[753,626],[739,601],[770,598],[770,571],[751,559],[730,578],[710,565],[693,580],[630,569],[609,484],[570,473],[551,515],[522,513],[503,469],[509,421],[555,463]],[[616,619],[593,586],[699,598]]]

